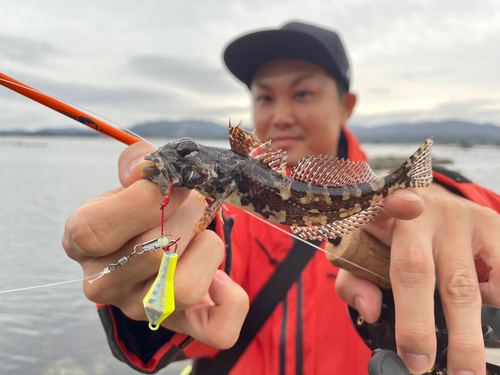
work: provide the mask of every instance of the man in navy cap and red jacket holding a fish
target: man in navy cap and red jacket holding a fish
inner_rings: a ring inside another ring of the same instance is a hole
[[[349,64],[336,33],[290,23],[237,39],[224,57],[252,92],[257,136],[285,150],[289,166],[307,154],[365,159],[346,127],[356,97],[349,92]],[[69,218],[63,244],[85,275],[158,236],[163,197],[141,178],[147,165],[143,156],[153,150],[138,144],[124,151],[119,162],[123,187],[86,203]],[[450,332],[448,373],[481,374],[481,298],[500,306],[500,219],[482,206],[499,210],[500,199],[460,176],[435,173],[435,180],[427,189],[396,191],[366,230],[391,246],[398,352],[407,367],[422,373],[434,363],[437,275]],[[295,245],[286,234],[234,208],[224,213],[224,224],[213,223],[215,232],[207,230],[193,241],[192,228],[203,208],[195,193],[174,189],[165,210],[165,227],[182,241],[176,312],[162,323],[164,329],[150,332],[142,307],[161,254],[143,256],[123,272],[84,285],[87,297],[100,304],[115,356],[145,372],[178,359],[203,358],[193,373],[223,373],[222,368],[231,374],[365,373],[369,350],[348,321],[335,287],[368,322],[378,318],[381,293],[347,272],[337,274],[320,252],[311,253],[262,328],[244,331],[235,346],[250,336],[243,354],[228,359],[219,353],[237,342],[245,319],[258,320],[259,306],[254,310],[252,305],[247,316],[249,302],[258,299]],[[488,282],[478,284],[474,259],[491,268]]]

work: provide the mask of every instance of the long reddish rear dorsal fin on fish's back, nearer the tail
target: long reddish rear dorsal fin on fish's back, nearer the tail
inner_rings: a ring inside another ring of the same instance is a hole
[[[290,172],[290,177],[313,185],[345,186],[377,178],[363,161],[350,161],[329,156],[306,156]]]

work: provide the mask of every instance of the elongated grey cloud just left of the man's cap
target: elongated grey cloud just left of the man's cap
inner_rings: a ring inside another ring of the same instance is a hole
[[[211,68],[200,59],[180,59],[166,55],[134,56],[128,67],[143,76],[173,83],[203,94],[241,92],[221,68]]]

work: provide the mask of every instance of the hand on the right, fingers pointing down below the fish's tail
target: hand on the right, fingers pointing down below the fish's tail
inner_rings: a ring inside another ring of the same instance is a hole
[[[448,373],[484,374],[481,299],[500,307],[499,215],[431,184],[394,192],[365,230],[391,247],[396,341],[408,369],[422,373],[435,361],[437,278],[449,330]],[[476,258],[491,268],[488,282],[478,283]],[[367,322],[378,319],[381,292],[374,284],[341,270],[337,292]]]

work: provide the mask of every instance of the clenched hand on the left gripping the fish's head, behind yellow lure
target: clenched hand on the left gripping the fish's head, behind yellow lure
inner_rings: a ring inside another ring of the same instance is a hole
[[[157,185],[142,179],[143,168],[151,164],[144,155],[152,151],[153,146],[142,142],[128,147],[118,164],[122,187],[85,203],[68,219],[63,247],[81,264],[85,277],[130,255],[136,244],[160,235],[163,195]],[[170,198],[165,232],[181,240],[174,278],[176,310],[161,325],[216,348],[229,348],[248,312],[248,296],[218,270],[224,256],[221,239],[212,231],[192,238],[206,205],[204,198],[175,188]],[[96,282],[85,281],[85,295],[118,307],[132,319],[147,320],[142,299],[156,278],[161,257],[161,251],[132,257]]]

